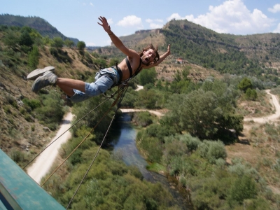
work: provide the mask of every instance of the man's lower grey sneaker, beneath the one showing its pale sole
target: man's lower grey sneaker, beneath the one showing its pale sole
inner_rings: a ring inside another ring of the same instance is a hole
[[[45,71],[45,73],[43,73],[43,76],[39,76],[38,78],[36,78],[31,87],[31,90],[33,92],[38,92],[43,87],[55,85],[55,83],[57,82],[57,78],[58,77],[55,75],[55,73],[52,73],[52,71]]]

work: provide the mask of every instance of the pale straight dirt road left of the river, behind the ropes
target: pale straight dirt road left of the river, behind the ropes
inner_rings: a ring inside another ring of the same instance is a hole
[[[64,116],[64,120],[62,121],[62,124],[60,125],[60,128],[52,141],[55,141],[55,139],[57,139],[61,134],[63,134],[71,127],[72,118],[72,113],[67,113],[66,116]],[[52,166],[52,163],[55,161],[55,158],[57,158],[60,146],[69,138],[71,138],[71,132],[67,131],[62,135],[62,137],[59,137],[59,139],[57,139],[57,141],[55,141],[49,148],[46,148],[45,151],[43,151],[43,153],[41,153],[41,155],[36,158],[33,165],[31,165],[27,169],[27,174],[29,174],[29,176],[31,176],[31,178],[34,179],[36,183],[39,184],[41,178],[48,173],[50,167]],[[52,143],[52,141],[50,141],[50,144]]]

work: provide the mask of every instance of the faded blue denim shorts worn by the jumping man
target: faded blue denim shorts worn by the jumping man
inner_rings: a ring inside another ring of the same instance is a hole
[[[85,83],[85,92],[73,89],[73,96],[67,96],[67,99],[74,103],[83,102],[90,97],[94,97],[106,92],[106,90],[108,90],[114,84],[118,84],[119,80],[120,76],[116,69],[113,69],[112,67],[108,69],[102,69],[96,73],[94,83]]]

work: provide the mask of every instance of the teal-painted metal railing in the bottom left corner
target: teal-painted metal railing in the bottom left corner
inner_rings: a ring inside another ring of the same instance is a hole
[[[0,209],[65,210],[1,149]]]

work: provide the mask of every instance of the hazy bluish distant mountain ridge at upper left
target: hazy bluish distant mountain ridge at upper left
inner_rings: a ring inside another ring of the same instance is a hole
[[[7,26],[28,26],[33,29],[36,29],[42,36],[49,36],[50,38],[61,37],[63,40],[69,38],[75,44],[78,43],[77,38],[70,38],[64,36],[61,32],[59,32],[55,27],[52,27],[50,23],[46,20],[38,17],[22,17],[20,15],[8,15],[3,14],[0,15],[0,25]]]

